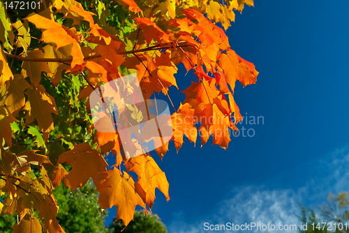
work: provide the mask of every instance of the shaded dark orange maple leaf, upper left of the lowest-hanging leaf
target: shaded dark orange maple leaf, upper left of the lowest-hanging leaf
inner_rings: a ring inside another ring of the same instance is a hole
[[[98,150],[92,150],[88,143],[77,144],[73,150],[59,155],[57,163],[73,167],[66,176],[72,191],[82,187],[94,175],[106,171],[108,166]]]

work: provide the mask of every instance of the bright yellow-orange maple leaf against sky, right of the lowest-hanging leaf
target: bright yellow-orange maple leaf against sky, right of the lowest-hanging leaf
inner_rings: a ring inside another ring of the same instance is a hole
[[[132,157],[127,160],[125,166],[127,171],[133,171],[138,175],[137,183],[142,186],[146,193],[146,200],[150,209],[154,204],[156,188],[163,192],[167,201],[170,200],[168,196],[169,184],[165,173],[161,171],[151,156],[140,155]]]

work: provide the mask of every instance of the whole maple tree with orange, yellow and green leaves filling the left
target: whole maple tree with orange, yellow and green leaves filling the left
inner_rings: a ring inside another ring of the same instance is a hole
[[[241,119],[233,98],[235,82],[255,83],[258,71],[230,48],[228,36],[214,24],[227,29],[234,10],[242,11],[245,3],[253,6],[253,1],[222,3],[96,0],[82,5],[55,0],[13,22],[0,2],[0,192],[6,194],[0,209],[17,214],[14,232],[64,232],[52,194],[61,181],[74,191],[92,178],[98,204],[102,209],[117,206],[116,220],[126,226],[136,205],[145,213],[147,206],[151,210],[156,188],[170,199],[165,173],[147,148],[135,146],[144,134],[121,141],[121,129],[110,115],[114,110],[105,104],[116,90],[127,96],[135,90],[110,88],[99,106],[89,104],[90,95],[101,92],[105,83],[130,73],[137,73],[145,104],[155,93],[172,104],[168,89],[177,87],[177,65],[192,70],[194,80],[182,90],[186,99],[174,109],[170,124],[161,118],[156,124],[172,125],[170,140],[177,151],[184,135],[195,143],[198,133],[201,145],[212,135],[213,145],[228,147],[229,130],[237,131]],[[153,103],[157,112],[157,101]],[[122,120],[140,132],[135,123],[152,117],[147,106],[141,111],[126,101],[121,104]],[[97,113],[91,114],[95,108]],[[110,124],[114,132],[96,130]],[[162,142],[155,149],[162,158],[169,142],[158,133],[151,140]],[[133,157],[125,146],[144,153]],[[105,160],[108,153],[115,162]]]

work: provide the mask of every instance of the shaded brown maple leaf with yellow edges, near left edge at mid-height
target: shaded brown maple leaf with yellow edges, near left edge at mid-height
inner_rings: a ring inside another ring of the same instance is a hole
[[[40,131],[43,132],[45,141],[53,127],[53,119],[51,113],[58,115],[57,106],[54,98],[45,91],[43,85],[38,85],[36,89],[28,89],[25,92],[28,96],[24,108],[28,110],[26,116],[26,125],[33,122],[34,118],[38,121]]]

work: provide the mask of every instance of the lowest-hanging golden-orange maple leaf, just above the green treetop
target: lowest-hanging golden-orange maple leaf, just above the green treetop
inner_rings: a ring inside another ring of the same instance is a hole
[[[100,193],[98,204],[102,209],[117,206],[116,220],[122,219],[124,225],[133,220],[136,205],[145,209],[142,198],[135,191],[135,181],[126,172],[121,175],[121,171],[114,168],[97,174],[94,182]]]

